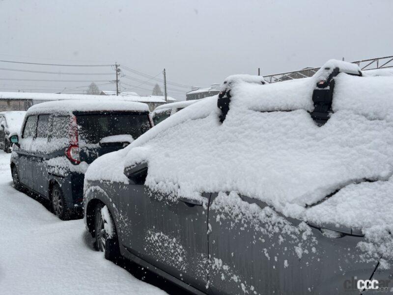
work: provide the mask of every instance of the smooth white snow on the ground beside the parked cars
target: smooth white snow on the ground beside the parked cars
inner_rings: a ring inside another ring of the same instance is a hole
[[[16,191],[9,158],[0,151],[0,294],[165,294],[92,250],[82,219]]]

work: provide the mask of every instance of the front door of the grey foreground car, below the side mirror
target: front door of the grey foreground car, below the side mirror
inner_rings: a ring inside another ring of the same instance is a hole
[[[130,180],[128,196],[118,200],[125,215],[122,242],[133,254],[205,291],[210,194],[198,200],[174,198],[143,183]]]

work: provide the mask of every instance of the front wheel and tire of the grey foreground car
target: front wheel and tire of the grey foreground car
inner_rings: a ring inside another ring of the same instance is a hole
[[[119,241],[117,238],[116,228],[114,226],[112,215],[110,214],[109,218],[111,218],[110,222],[112,222],[112,236],[105,230],[105,223],[107,221],[103,218],[101,209],[104,206],[102,204],[98,204],[95,208],[94,214],[94,230],[95,230],[95,244],[96,249],[98,251],[104,252],[105,259],[108,259],[113,262],[117,262],[120,258],[120,248]]]

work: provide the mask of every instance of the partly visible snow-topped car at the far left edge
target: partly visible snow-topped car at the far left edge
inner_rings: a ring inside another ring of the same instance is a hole
[[[25,115],[24,111],[0,112],[0,149],[11,152],[9,135],[21,130]]]

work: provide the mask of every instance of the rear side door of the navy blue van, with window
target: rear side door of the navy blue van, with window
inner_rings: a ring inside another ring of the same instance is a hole
[[[31,170],[34,176],[33,189],[47,196],[48,169],[45,160],[48,158],[48,136],[50,133],[50,115],[39,115],[37,121],[37,135],[33,141],[35,146],[31,152]]]

